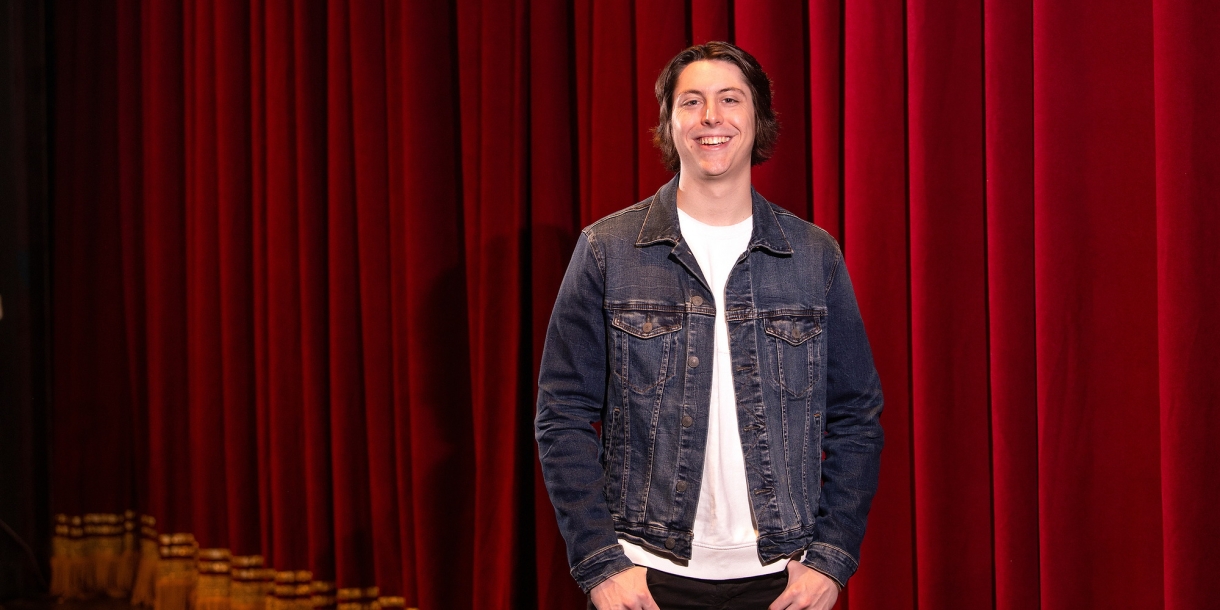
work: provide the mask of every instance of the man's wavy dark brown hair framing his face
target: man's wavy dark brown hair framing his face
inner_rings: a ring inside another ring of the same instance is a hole
[[[762,66],[753,55],[732,43],[712,40],[708,44],[689,46],[675,55],[665,65],[665,70],[661,70],[661,74],[656,77],[656,102],[661,106],[661,116],[656,127],[653,128],[653,144],[661,149],[661,161],[665,163],[665,168],[671,172],[681,168],[678,151],[673,145],[673,134],[670,133],[673,89],[677,87],[678,74],[691,63],[704,60],[727,61],[742,71],[745,83],[750,88],[750,96],[754,98],[754,150],[750,151],[750,165],[759,165],[771,159],[775,140],[780,137],[780,121],[775,116],[775,109],[771,107],[771,79],[767,78]]]

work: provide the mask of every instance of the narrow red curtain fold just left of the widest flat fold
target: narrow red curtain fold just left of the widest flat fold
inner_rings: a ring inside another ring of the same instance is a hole
[[[983,6],[987,349],[996,608],[1035,608],[1038,410],[1033,288],[1033,6]]]

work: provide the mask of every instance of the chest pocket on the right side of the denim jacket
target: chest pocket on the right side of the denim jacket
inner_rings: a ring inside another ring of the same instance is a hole
[[[769,355],[767,378],[793,398],[804,398],[817,382],[822,359],[825,311],[762,318]]]

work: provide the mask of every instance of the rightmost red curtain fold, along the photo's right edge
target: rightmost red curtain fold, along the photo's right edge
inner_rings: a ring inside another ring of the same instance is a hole
[[[1153,5],[1157,150],[1157,345],[1165,608],[1220,595],[1210,438],[1220,427],[1220,6]]]

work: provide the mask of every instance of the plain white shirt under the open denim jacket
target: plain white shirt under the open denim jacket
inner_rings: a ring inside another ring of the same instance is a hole
[[[725,284],[737,259],[745,251],[754,218],[737,224],[704,224],[678,210],[682,239],[691,246],[704,279],[715,298],[715,357],[711,362],[711,401],[708,409],[708,448],[703,462],[703,486],[694,518],[694,539],[687,565],[619,540],[636,565],[662,572],[723,581],[778,572],[787,561],[762,565],[758,554],[758,528],[745,484],[745,458],[737,426],[737,396],[728,354],[728,325],[725,323]]]

